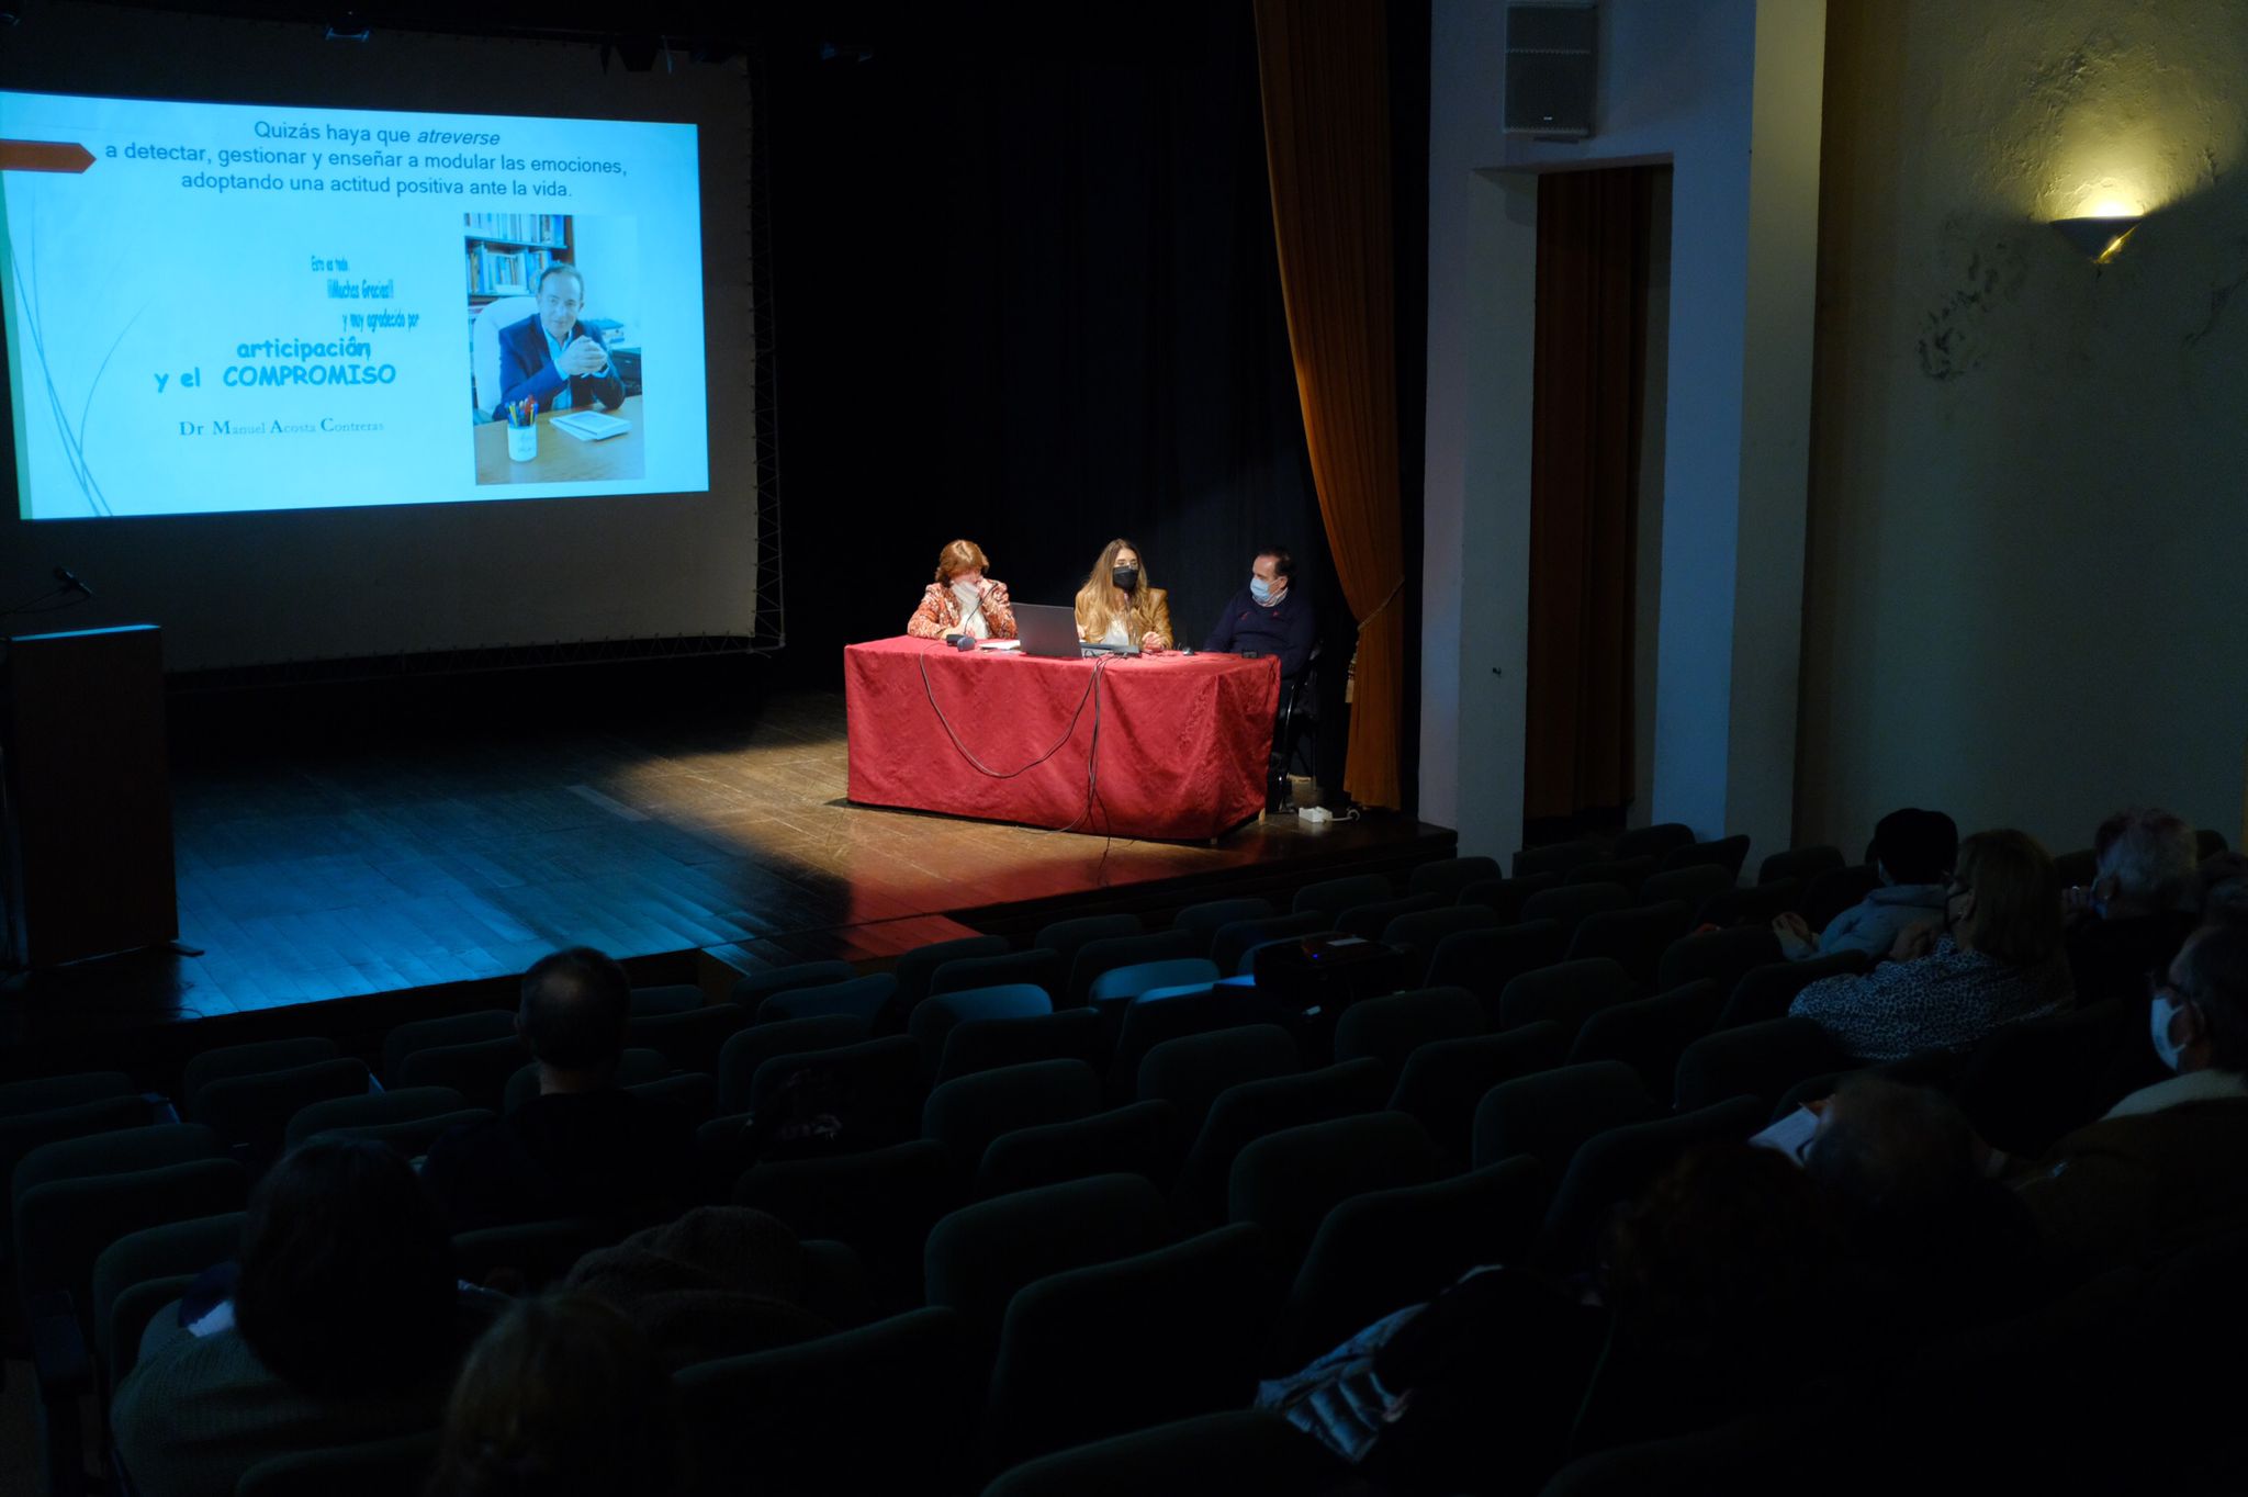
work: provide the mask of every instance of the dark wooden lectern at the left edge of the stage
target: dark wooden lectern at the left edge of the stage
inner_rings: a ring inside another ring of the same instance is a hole
[[[162,632],[20,634],[0,688],[11,958],[54,967],[175,940]]]

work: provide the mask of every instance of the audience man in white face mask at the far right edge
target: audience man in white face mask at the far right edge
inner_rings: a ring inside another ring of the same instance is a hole
[[[2019,1180],[2068,1274],[2248,1225],[2248,924],[2199,928],[2149,987],[2149,1041],[2174,1074],[2064,1137]]]

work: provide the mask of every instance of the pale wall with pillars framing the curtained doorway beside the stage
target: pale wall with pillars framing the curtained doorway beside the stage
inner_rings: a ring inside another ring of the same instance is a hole
[[[1794,811],[1825,0],[1610,0],[1589,142],[1499,130],[1504,22],[1432,7],[1421,816],[1468,852],[1522,838],[1535,175],[1668,162],[1643,811],[1771,852]]]

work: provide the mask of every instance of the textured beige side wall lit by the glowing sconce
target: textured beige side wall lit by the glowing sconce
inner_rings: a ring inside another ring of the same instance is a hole
[[[2244,562],[2248,4],[1832,0],[1796,841],[2237,832]]]

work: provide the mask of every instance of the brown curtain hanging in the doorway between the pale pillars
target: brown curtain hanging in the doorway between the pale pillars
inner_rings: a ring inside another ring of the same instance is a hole
[[[1538,180],[1526,820],[1632,800],[1652,173]]]

